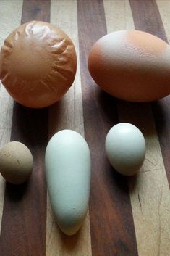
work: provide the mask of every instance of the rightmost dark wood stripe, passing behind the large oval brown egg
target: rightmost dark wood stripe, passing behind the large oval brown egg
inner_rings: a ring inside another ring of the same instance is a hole
[[[155,0],[130,0],[135,29],[144,30],[168,42]],[[158,139],[163,154],[166,175],[170,184],[170,96],[152,103]]]

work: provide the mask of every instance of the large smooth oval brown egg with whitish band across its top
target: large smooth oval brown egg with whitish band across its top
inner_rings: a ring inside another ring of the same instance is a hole
[[[139,30],[120,30],[100,38],[88,68],[104,91],[131,102],[151,102],[170,93],[170,46]]]

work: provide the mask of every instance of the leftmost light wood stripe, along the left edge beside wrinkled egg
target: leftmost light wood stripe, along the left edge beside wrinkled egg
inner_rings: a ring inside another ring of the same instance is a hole
[[[10,13],[10,16],[9,16]],[[20,25],[22,15],[22,0],[0,1],[0,47],[4,44],[4,39],[17,26]],[[0,82],[0,146],[4,146],[10,141],[12,126],[13,99]],[[4,206],[4,178],[0,175],[0,233],[1,217]]]

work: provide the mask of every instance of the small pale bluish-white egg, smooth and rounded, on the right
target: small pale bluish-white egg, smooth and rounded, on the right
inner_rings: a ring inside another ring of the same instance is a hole
[[[135,125],[114,125],[106,136],[105,147],[109,162],[122,175],[135,175],[142,167],[145,160],[145,139]]]

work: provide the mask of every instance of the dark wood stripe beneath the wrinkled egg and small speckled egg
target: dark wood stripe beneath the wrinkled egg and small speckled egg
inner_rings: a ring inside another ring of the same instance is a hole
[[[50,1],[24,1],[22,23],[50,21]],[[46,255],[46,178],[44,153],[48,141],[48,109],[33,110],[14,103],[11,141],[21,141],[33,154],[34,169],[21,186],[6,185],[0,254]]]

